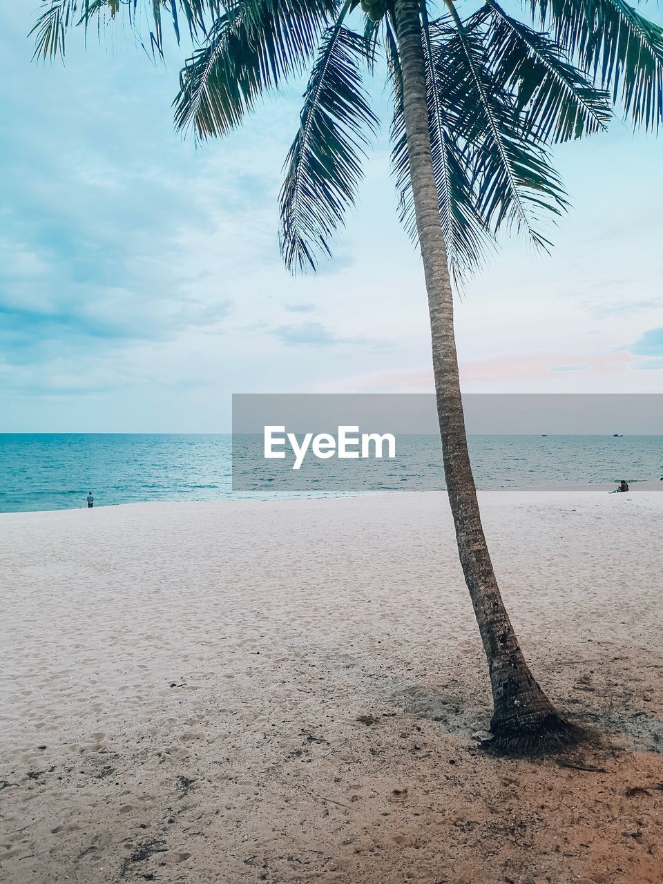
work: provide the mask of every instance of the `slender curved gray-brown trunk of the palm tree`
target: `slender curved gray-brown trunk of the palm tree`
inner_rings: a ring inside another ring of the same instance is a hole
[[[403,81],[403,110],[416,229],[431,315],[431,339],[446,487],[458,552],[491,675],[491,729],[500,748],[534,751],[567,743],[574,735],[538,686],[499,594],[481,524],[469,463],[461,402],[453,293],[440,228],[438,193],[428,130],[426,85],[418,0],[395,0],[396,34]]]

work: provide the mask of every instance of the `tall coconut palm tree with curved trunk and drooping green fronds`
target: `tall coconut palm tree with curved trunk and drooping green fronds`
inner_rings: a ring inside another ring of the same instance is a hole
[[[534,751],[575,739],[530,673],[492,568],[463,419],[453,287],[484,261],[500,228],[548,247],[545,216],[568,204],[552,143],[604,129],[615,107],[658,128],[661,28],[624,0],[522,0],[530,25],[497,0],[476,0],[462,17],[454,0],[440,0],[434,19],[428,0],[42,2],[34,33],[43,58],[64,55],[72,25],[122,15],[146,48],[163,54],[162,16],[178,42],[186,22],[194,50],[180,72],[175,124],[202,141],[238,126],[263,93],[312,62],[280,194],[281,249],[293,271],[315,270],[331,254],[354,203],[377,126],[362,66],[385,58],[393,168],[402,219],[423,259],[446,485],[488,659],[493,743]]]

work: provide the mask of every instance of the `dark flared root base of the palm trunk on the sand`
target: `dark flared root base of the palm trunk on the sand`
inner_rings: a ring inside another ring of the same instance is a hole
[[[522,720],[499,720],[493,716],[491,751],[505,755],[541,755],[565,749],[581,739],[580,728],[563,719],[556,712],[543,717],[523,717]]]

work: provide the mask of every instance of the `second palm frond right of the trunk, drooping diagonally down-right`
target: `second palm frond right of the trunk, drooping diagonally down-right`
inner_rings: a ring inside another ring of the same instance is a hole
[[[486,64],[482,24],[481,14],[466,22],[456,16],[451,26],[445,19],[431,23],[440,95],[465,141],[484,222],[494,232],[512,226],[546,249],[545,220],[566,209],[566,194],[545,147],[522,125],[515,95]]]

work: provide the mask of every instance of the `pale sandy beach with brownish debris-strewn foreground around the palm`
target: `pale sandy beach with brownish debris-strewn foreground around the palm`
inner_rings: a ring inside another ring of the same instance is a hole
[[[481,502],[570,756],[472,737],[442,493],[0,515],[2,879],[663,880],[663,494]]]

